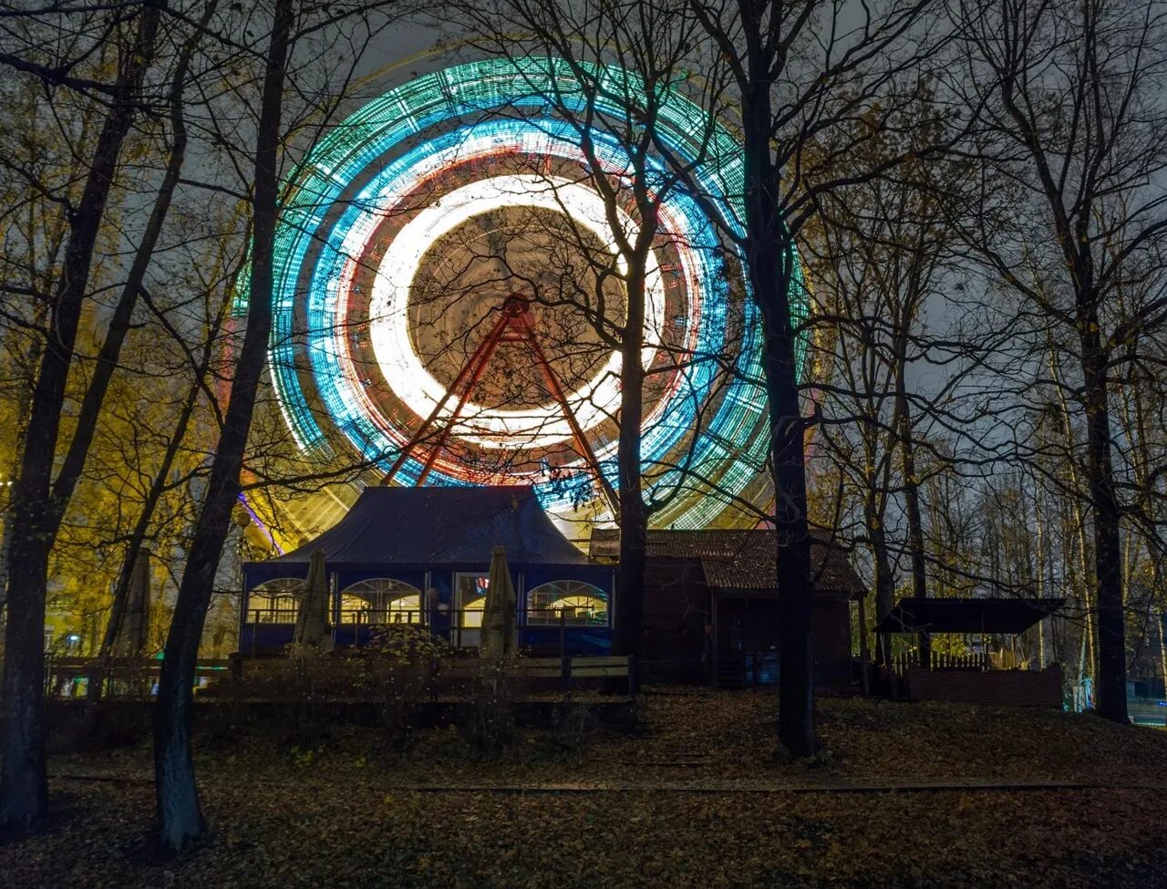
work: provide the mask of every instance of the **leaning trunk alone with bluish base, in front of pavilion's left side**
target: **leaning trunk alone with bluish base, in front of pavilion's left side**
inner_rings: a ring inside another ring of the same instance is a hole
[[[154,713],[154,788],[158,839],[177,852],[207,830],[190,748],[194,672],[215,573],[239,496],[239,473],[272,322],[273,247],[278,216],[280,119],[293,0],[277,0],[266,54],[254,158],[252,279],[247,329],[236,362],[231,397],[211,462],[187,566],[179,586]]]

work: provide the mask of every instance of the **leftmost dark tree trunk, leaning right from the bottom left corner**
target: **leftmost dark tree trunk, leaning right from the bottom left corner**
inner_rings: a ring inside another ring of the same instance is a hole
[[[72,362],[77,326],[89,282],[93,247],[113,187],[121,146],[130,133],[142,77],[154,55],[159,8],[139,14],[134,46],[123,56],[113,104],[98,135],[57,286],[48,338],[33,390],[20,477],[9,513],[13,527],[5,626],[4,764],[0,766],[0,824],[25,831],[48,808],[44,764],[44,597],[49,552],[56,528],[50,502],[61,408]]]

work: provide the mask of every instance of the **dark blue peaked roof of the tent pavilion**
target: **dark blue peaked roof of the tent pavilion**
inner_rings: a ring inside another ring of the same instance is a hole
[[[495,546],[512,564],[596,565],[522,485],[366,488],[331,528],[261,565],[307,565],[316,550],[330,566],[488,564]]]

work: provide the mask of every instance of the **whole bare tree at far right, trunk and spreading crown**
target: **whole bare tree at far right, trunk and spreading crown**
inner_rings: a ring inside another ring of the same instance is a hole
[[[1120,313],[1117,292],[1167,233],[1161,187],[1163,10],[1155,4],[960,4],[965,65],[951,88],[983,106],[977,150],[1011,183],[986,194],[970,231],[981,259],[1058,349],[1072,350],[1067,393],[1085,421],[1092,525],[1098,702],[1126,721],[1124,508],[1114,467],[1112,374],[1139,331],[1161,327],[1167,298]]]

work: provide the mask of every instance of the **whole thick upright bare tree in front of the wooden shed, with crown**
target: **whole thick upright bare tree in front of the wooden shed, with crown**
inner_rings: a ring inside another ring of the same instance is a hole
[[[806,302],[792,245],[815,216],[816,198],[844,180],[837,161],[889,127],[907,97],[893,89],[904,69],[918,69],[916,26],[927,8],[890,2],[855,9],[841,2],[691,4],[708,36],[710,70],[732,83],[718,111],[733,119],[742,141],[740,228],[752,298],[762,315],[763,370],[770,414],[774,524],[778,531],[781,643],[778,738],[795,756],[816,750],[811,651],[810,540],[806,530],[804,432],[798,387],[799,316]],[[876,104],[879,99],[879,104]],[[850,121],[874,111],[872,127]],[[822,148],[826,150],[822,150]],[[899,159],[855,176],[890,168]]]

